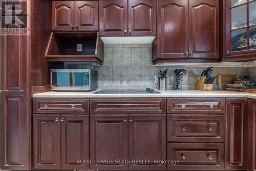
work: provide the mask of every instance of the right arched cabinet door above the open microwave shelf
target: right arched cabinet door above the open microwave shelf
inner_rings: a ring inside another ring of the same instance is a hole
[[[75,2],[76,31],[98,31],[98,1]]]

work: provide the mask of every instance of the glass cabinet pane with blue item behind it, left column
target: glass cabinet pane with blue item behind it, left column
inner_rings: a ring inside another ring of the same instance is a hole
[[[247,50],[247,29],[231,31],[232,51]]]

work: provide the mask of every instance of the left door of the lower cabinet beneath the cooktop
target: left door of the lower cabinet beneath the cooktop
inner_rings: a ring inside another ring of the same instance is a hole
[[[127,170],[128,164],[115,160],[128,159],[127,115],[91,116],[91,169]],[[113,160],[114,163],[98,162]],[[95,162],[96,161],[96,162]]]

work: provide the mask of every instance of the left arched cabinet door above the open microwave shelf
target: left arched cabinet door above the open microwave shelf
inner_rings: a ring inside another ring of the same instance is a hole
[[[75,2],[53,1],[52,2],[52,30],[74,31],[75,25]]]

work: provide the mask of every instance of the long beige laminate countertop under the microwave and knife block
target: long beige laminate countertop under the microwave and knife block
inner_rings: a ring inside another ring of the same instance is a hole
[[[161,94],[93,94],[91,92],[49,91],[33,94],[34,98],[249,98],[256,99],[256,93],[236,91],[166,90]]]

